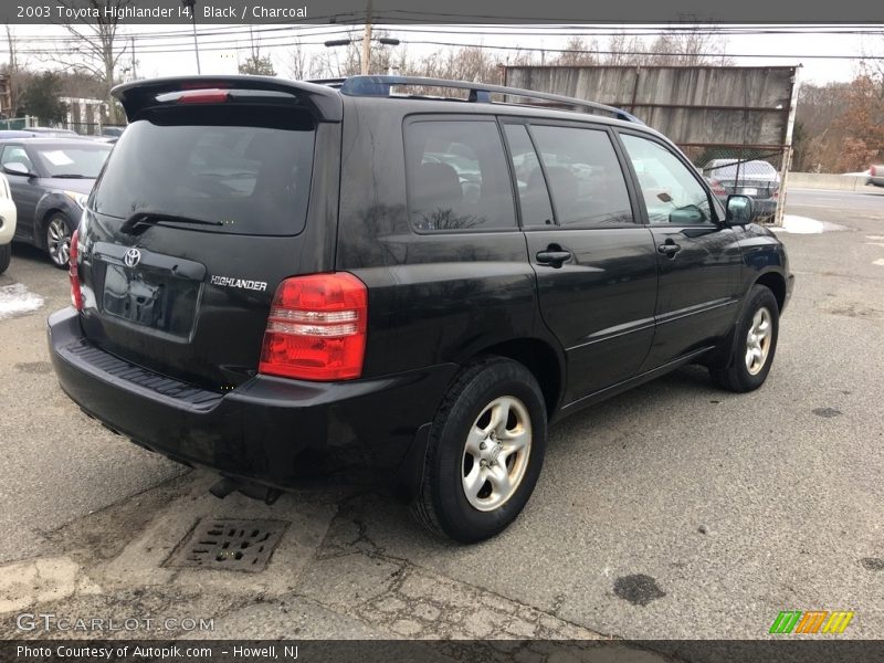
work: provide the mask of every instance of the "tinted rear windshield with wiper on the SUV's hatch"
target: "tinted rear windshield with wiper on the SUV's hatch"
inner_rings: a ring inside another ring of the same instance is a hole
[[[200,230],[291,235],[304,229],[315,128],[291,108],[175,108],[133,123],[92,201],[122,221],[166,214]]]

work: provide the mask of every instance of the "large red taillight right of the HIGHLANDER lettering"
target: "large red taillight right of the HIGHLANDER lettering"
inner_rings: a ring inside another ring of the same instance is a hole
[[[352,274],[286,278],[276,288],[259,371],[302,380],[362,375],[368,290]]]

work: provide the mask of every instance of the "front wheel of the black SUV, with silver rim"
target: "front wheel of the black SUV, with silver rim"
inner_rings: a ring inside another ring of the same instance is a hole
[[[709,367],[713,381],[728,391],[758,389],[770,372],[778,336],[777,298],[764,285],[754,285],[734,333],[728,336],[729,352],[722,365]]]

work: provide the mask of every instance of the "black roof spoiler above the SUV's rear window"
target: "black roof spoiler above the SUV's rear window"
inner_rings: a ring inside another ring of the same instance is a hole
[[[250,91],[255,96],[270,96],[302,106],[309,110],[317,119],[324,122],[340,122],[344,117],[344,103],[340,93],[326,85],[316,85],[303,81],[286,81],[271,76],[173,76],[167,78],[148,78],[117,85],[110,91],[123,108],[129,122],[135,122],[148,108],[166,106],[169,97],[176,93],[187,93],[198,90],[229,91],[231,97],[248,96]],[[164,97],[164,98],[157,98]]]

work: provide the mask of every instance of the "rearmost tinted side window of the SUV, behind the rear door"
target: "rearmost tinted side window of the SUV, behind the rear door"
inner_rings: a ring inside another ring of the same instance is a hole
[[[412,122],[404,140],[409,214],[417,230],[516,228],[496,122]]]

